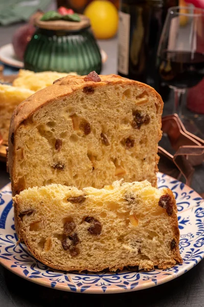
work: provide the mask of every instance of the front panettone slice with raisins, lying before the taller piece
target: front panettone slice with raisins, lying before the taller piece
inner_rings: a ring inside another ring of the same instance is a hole
[[[14,198],[19,237],[59,270],[151,270],[181,263],[177,208],[169,189],[116,181],[103,189],[52,184]]]

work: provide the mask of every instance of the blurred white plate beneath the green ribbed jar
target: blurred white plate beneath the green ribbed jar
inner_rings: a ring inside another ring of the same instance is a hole
[[[107,53],[101,49],[102,63],[107,61]],[[15,68],[24,68],[24,62],[18,60],[13,50],[12,43],[8,43],[0,48],[0,61]]]

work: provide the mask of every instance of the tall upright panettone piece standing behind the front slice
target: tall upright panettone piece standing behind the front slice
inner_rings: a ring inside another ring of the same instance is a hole
[[[162,108],[150,86],[117,75],[67,76],[38,91],[11,120],[13,194],[51,183],[102,188],[121,178],[156,186]]]

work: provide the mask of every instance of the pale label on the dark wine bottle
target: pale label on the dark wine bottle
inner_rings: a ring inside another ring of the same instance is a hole
[[[130,14],[119,12],[118,71],[128,75],[129,70]]]

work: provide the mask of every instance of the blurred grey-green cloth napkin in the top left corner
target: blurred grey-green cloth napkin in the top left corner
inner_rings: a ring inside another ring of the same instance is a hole
[[[0,24],[7,26],[27,21],[38,9],[44,10],[51,0],[0,0]]]

